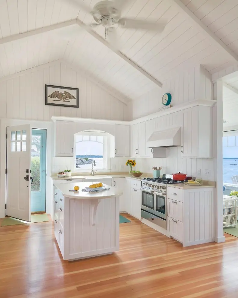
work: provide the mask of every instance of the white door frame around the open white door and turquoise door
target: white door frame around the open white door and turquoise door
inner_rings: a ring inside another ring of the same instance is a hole
[[[15,126],[21,124],[31,124],[32,128],[45,129],[47,133],[46,148],[48,152],[52,152],[53,148],[53,132],[54,124],[51,121],[32,121],[32,120],[19,120],[19,119],[1,119],[1,131],[0,131],[0,218],[4,218],[6,215],[6,154],[7,154],[7,142],[6,131],[7,126]],[[46,155],[46,204],[45,210],[47,214],[53,216],[53,183],[51,179],[51,154]]]

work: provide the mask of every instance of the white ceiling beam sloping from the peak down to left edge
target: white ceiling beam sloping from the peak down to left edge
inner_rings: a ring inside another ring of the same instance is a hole
[[[36,30],[31,30],[31,31],[28,31],[28,32],[25,32],[25,33],[14,34],[14,35],[11,35],[11,36],[1,38],[0,39],[0,44],[4,44],[4,43],[7,43],[7,42],[12,42],[12,41],[15,41],[15,40],[18,40],[18,39],[26,38],[26,37],[33,36],[33,35],[36,35],[36,34],[49,32],[49,31],[52,31],[52,30],[60,29],[60,28],[65,28],[65,27],[72,26],[72,25],[75,25],[75,24],[76,24],[76,19],[66,21],[66,22],[62,22],[62,23],[58,23],[58,24],[54,24],[54,25],[51,25],[51,26],[46,26],[46,27],[39,28],[39,29],[36,29]]]

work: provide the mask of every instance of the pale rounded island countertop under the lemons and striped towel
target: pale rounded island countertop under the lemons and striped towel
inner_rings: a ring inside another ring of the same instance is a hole
[[[108,187],[109,190],[98,191],[95,193],[88,193],[88,192],[82,191],[83,188],[88,187],[91,184],[92,182],[76,182],[76,183],[55,182],[54,186],[57,187],[62,192],[64,197],[70,198],[70,199],[108,199],[115,196],[121,196],[123,194],[123,192],[117,189],[116,187],[112,187],[106,184],[103,184],[103,186]],[[79,186],[79,191],[77,192],[70,191],[70,189],[74,189],[76,185]]]

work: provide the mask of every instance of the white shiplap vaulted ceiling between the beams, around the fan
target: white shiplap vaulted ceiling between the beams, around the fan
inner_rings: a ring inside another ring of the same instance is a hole
[[[84,2],[93,7],[98,0]],[[238,55],[237,0],[181,2]],[[161,34],[118,28],[120,52],[158,82],[182,67],[202,64],[213,73],[233,62],[173,0],[128,0],[122,15],[166,21]],[[85,24],[92,21],[71,0],[0,0],[0,77],[63,59],[125,98],[137,99],[154,88],[153,80],[77,24],[3,43],[8,36],[76,18]],[[96,34],[103,39],[103,28],[97,27]]]

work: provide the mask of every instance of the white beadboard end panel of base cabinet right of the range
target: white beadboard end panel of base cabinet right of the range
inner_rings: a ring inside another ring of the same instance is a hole
[[[183,246],[215,240],[213,188],[183,190]]]

